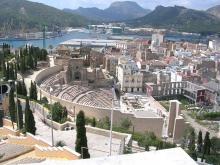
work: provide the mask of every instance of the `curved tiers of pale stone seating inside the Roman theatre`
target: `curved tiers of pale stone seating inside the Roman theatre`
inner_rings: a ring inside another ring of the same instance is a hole
[[[89,86],[59,84],[59,74],[53,74],[40,84],[40,88],[49,93],[48,87],[54,90],[51,94],[69,102],[97,108],[111,108],[112,92],[108,88],[92,89]]]

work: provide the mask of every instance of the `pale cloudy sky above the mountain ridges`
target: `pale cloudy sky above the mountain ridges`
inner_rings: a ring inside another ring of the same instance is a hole
[[[78,7],[98,7],[105,9],[117,0],[30,0],[53,6],[59,9]],[[122,1],[122,0],[120,0]],[[156,6],[185,6],[187,8],[206,10],[212,6],[220,5],[220,0],[132,0],[144,8],[153,10]]]

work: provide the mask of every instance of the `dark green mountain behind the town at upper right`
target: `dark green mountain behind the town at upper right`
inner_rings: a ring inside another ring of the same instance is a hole
[[[148,15],[128,21],[135,26],[151,26],[185,32],[219,32],[220,19],[205,11],[181,6],[158,6]]]

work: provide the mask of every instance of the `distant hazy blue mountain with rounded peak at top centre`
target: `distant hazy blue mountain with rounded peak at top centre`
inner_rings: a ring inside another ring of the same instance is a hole
[[[78,8],[76,10],[64,9],[66,12],[75,13],[93,20],[99,21],[124,21],[143,17],[150,12],[136,2],[117,1],[113,2],[107,9],[98,8]]]

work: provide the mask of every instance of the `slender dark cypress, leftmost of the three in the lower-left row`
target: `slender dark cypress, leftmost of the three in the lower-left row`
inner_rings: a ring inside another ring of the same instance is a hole
[[[14,122],[16,122],[16,110],[15,110],[15,100],[14,100],[14,89],[11,88],[9,93],[9,114],[12,121],[12,126],[14,128]]]

